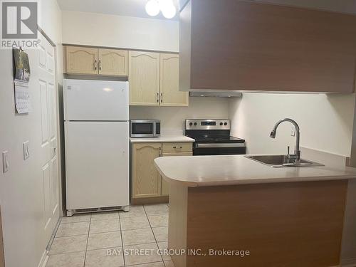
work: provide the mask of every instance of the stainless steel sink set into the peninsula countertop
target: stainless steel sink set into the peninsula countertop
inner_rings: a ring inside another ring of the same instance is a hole
[[[324,164],[307,159],[300,159],[300,164],[295,164],[293,159],[288,159],[288,155],[251,155],[245,157],[273,168],[324,166]]]

